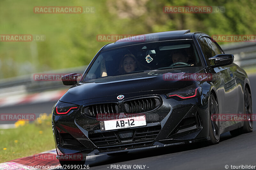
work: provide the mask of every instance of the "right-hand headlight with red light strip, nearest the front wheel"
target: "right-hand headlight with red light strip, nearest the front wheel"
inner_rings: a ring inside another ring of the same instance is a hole
[[[167,98],[178,97],[180,99],[190,99],[193,97],[198,97],[202,94],[202,87],[197,84],[190,85],[188,87],[175,90],[166,94]]]

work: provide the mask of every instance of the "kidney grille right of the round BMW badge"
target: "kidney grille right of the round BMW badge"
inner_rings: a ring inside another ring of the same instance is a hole
[[[144,113],[159,107],[161,101],[157,97],[129,100],[124,102],[124,111],[128,114]]]

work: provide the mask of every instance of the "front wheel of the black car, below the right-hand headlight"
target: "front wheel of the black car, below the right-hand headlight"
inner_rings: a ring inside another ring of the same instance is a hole
[[[220,141],[220,120],[212,120],[212,114],[219,115],[219,105],[213,94],[209,97],[209,145],[218,144]]]

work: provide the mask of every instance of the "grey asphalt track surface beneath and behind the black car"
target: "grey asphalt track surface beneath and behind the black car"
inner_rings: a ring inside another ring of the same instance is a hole
[[[256,75],[249,76],[252,88],[253,113],[256,113]],[[2,113],[50,113],[55,102],[0,108]],[[254,129],[256,123],[254,122]],[[232,137],[229,132],[220,137],[220,143],[206,146],[202,143],[154,148],[128,152],[125,155],[96,155],[87,157],[89,169],[125,169],[122,165],[145,165],[148,170],[165,169],[231,169],[232,166],[256,166],[256,129]],[[113,168],[114,165],[116,168]],[[225,166],[228,168],[225,168]],[[256,168],[256,167],[255,167]],[[234,167],[232,168],[234,169]],[[242,167],[239,169],[243,169]]]

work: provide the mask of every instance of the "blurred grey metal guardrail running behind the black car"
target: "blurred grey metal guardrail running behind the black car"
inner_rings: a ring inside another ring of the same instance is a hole
[[[250,67],[256,64],[256,42],[243,42],[221,45],[226,54],[234,54],[234,62],[241,67]],[[44,73],[80,73],[83,74],[87,66],[52,70]],[[34,81],[33,74],[16,78],[2,79],[0,82],[0,97],[5,95],[42,92],[45,90],[68,89],[61,81]]]

